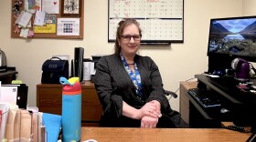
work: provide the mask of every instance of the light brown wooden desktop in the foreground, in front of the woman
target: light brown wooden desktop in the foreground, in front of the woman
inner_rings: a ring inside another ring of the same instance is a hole
[[[122,128],[82,127],[81,141],[95,139],[98,142],[236,142],[246,141],[251,133],[240,133],[224,128]]]

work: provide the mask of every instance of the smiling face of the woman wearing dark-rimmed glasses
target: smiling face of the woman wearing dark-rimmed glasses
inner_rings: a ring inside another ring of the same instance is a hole
[[[140,47],[141,35],[137,25],[127,25],[123,29],[123,35],[119,41],[123,55],[135,55]]]

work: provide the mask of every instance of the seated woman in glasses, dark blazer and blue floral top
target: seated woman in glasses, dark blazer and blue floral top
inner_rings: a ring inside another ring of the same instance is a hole
[[[136,54],[141,38],[139,23],[124,19],[117,28],[114,54],[102,56],[97,64],[101,127],[187,127],[169,106],[155,62]]]

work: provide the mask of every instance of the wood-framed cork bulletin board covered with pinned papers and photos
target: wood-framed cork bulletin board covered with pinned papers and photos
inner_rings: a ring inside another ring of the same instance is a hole
[[[82,39],[83,13],[84,0],[12,0],[11,36]]]

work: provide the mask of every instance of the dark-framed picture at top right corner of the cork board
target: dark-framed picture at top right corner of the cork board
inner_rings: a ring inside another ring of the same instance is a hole
[[[61,15],[80,17],[81,6],[81,0],[61,0]]]

